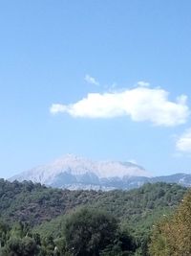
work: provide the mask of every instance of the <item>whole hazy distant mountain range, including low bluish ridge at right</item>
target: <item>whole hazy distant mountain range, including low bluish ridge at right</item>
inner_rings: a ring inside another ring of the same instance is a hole
[[[138,188],[144,183],[159,181],[191,186],[191,175],[152,177],[144,168],[131,162],[93,161],[73,154],[67,154],[51,164],[14,175],[9,180],[32,180],[47,186],[70,190],[129,190]]]

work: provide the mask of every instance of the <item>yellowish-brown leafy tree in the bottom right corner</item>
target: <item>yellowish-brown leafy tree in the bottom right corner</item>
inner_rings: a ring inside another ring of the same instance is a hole
[[[153,256],[191,255],[191,191],[182,199],[176,213],[156,225],[150,244]]]

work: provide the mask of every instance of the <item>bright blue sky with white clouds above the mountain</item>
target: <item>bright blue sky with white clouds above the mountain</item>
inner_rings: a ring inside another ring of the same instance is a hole
[[[66,153],[191,174],[191,1],[0,1],[0,177]]]

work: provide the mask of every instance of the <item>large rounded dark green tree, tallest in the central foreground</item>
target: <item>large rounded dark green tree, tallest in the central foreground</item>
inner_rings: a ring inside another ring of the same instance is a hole
[[[74,256],[97,256],[109,244],[114,244],[117,220],[106,213],[82,208],[66,221],[65,237]]]

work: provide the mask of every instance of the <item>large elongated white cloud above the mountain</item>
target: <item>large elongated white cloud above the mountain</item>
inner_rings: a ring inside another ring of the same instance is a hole
[[[51,112],[86,118],[129,116],[136,122],[149,121],[156,126],[171,127],[186,122],[189,116],[186,100],[185,95],[180,95],[171,102],[165,90],[138,86],[120,92],[90,93],[71,105],[54,104]]]

